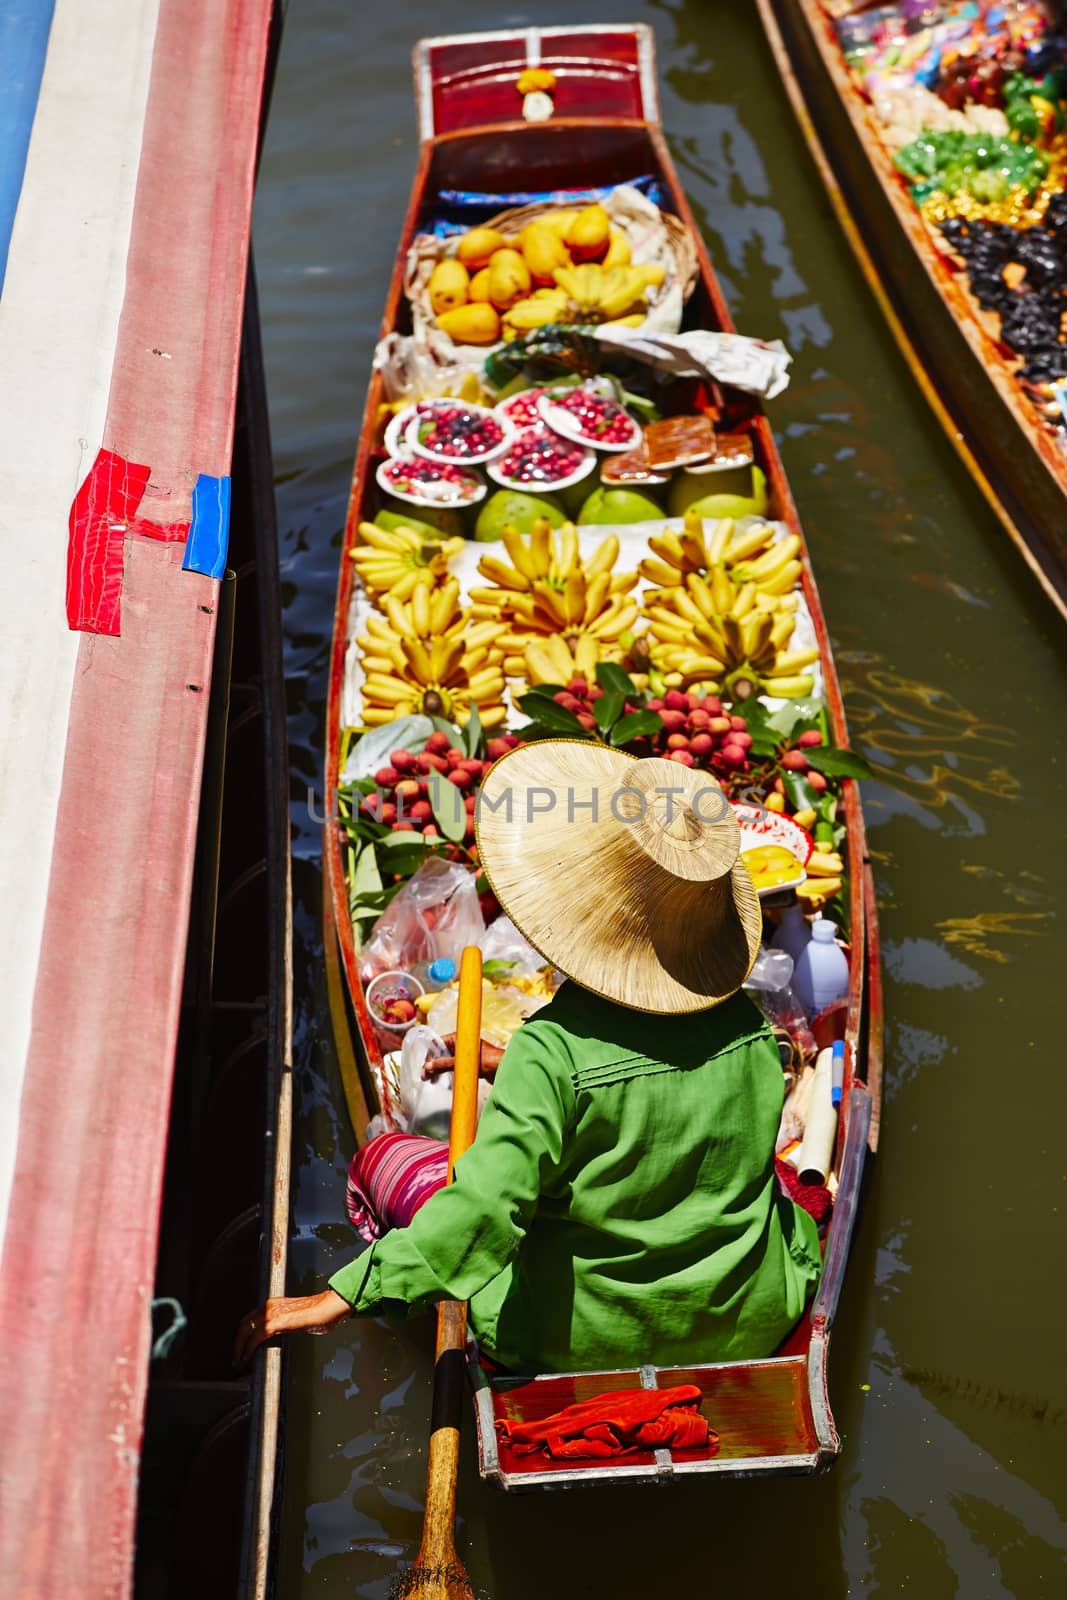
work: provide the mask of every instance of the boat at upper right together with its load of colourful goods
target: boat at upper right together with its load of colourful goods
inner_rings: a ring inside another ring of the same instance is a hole
[[[758,0],[845,234],[926,398],[1067,614],[1054,8]]]

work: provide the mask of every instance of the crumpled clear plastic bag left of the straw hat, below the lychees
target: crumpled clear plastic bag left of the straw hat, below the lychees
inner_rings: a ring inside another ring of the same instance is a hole
[[[363,982],[390,968],[450,955],[456,966],[469,944],[485,938],[475,874],[459,861],[432,856],[405,883],[374,923],[360,971]]]

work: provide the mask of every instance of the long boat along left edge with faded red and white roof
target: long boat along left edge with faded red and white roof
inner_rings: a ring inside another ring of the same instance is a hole
[[[266,1597],[280,1354],[235,1378],[229,1346],[288,1234],[285,686],[245,293],[277,29],[270,0],[22,22],[0,61],[3,1587]]]

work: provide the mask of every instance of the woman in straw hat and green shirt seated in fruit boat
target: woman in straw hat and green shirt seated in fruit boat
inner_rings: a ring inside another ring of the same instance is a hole
[[[501,906],[569,981],[507,1046],[454,1182],[322,1294],[250,1314],[238,1357],[443,1298],[517,1373],[771,1355],[821,1256],[774,1171],[782,1070],[741,990],[761,917],[721,790],[541,741],[491,768],[477,838]]]

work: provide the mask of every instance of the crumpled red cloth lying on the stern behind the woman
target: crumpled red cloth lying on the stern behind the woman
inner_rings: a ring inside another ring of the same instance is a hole
[[[501,1440],[520,1454],[544,1450],[571,1456],[629,1456],[635,1450],[707,1450],[718,1434],[701,1416],[696,1384],[673,1389],[616,1389],[568,1405],[541,1422],[498,1419]]]

